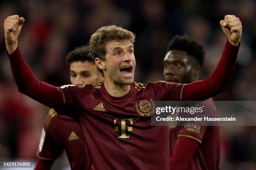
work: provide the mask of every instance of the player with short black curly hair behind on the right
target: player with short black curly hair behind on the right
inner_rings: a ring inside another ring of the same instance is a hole
[[[195,82],[198,80],[203,60],[202,45],[186,35],[176,35],[167,46],[164,57],[164,78],[168,82]],[[205,106],[204,110],[207,110],[208,114],[216,116],[212,99],[201,104]],[[194,123],[171,126],[170,153],[171,170],[218,170],[219,127],[199,126]]]

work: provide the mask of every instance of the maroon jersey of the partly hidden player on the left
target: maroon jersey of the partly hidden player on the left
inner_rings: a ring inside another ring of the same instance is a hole
[[[54,109],[51,109],[44,120],[36,155],[43,160],[55,160],[64,149],[72,170],[85,169],[87,159],[79,124],[71,117],[57,115]]]

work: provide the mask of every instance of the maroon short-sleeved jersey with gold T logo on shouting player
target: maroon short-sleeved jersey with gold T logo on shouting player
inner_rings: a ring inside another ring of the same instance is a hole
[[[169,170],[169,127],[151,126],[151,114],[154,100],[179,100],[182,87],[133,83],[126,95],[113,97],[103,82],[61,86],[62,114],[75,108],[82,126],[87,169]]]

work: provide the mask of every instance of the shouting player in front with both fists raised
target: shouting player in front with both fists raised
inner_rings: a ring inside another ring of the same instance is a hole
[[[24,18],[8,17],[5,41],[14,80],[20,92],[77,118],[85,138],[87,169],[169,170],[169,127],[151,126],[154,100],[205,100],[223,92],[233,75],[241,39],[239,18],[220,21],[228,37],[210,77],[190,84],[134,82],[135,35],[115,25],[99,28],[90,38],[90,55],[103,72],[104,83],[54,87],[36,79],[18,47]]]

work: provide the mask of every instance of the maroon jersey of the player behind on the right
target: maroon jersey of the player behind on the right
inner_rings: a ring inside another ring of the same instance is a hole
[[[212,98],[206,100],[204,110],[207,115],[216,116]],[[170,127],[170,155],[174,150],[177,138],[187,137],[198,141],[200,144],[193,155],[188,170],[218,170],[220,163],[220,131],[218,126],[199,126],[194,123],[187,123],[184,126]]]

